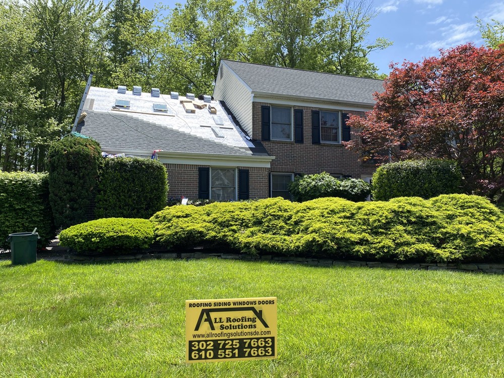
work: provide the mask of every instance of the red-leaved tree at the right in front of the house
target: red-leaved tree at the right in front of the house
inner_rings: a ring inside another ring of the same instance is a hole
[[[350,118],[361,138],[347,148],[377,162],[456,160],[468,193],[498,200],[504,192],[504,45],[468,43],[391,68],[373,110]]]

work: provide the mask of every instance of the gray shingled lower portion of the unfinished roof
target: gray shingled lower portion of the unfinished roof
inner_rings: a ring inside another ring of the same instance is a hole
[[[98,141],[103,151],[153,151],[251,156],[238,148],[173,130],[123,113],[86,110],[77,132]]]

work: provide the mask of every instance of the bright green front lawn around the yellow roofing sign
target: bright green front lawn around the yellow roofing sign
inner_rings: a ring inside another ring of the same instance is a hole
[[[0,262],[0,376],[504,377],[504,277]],[[278,297],[275,360],[186,364],[184,301]]]

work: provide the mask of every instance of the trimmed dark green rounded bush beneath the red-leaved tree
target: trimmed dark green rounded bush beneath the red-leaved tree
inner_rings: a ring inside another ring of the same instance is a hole
[[[375,201],[395,197],[429,199],[442,194],[460,193],[462,175],[456,162],[440,159],[407,160],[384,164],[373,174]]]

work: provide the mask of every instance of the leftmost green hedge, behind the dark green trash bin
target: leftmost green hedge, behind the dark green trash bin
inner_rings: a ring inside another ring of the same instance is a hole
[[[10,249],[9,234],[35,227],[46,246],[55,236],[47,173],[0,172],[0,249]]]

